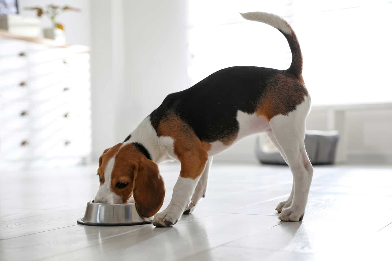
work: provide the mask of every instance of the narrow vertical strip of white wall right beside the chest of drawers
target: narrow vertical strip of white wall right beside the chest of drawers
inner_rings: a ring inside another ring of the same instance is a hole
[[[91,2],[93,159],[119,142],[116,115],[123,85],[122,4],[122,0]]]

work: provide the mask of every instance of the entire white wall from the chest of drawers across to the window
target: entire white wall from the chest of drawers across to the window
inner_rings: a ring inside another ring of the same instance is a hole
[[[186,2],[91,2],[94,159],[189,87]]]

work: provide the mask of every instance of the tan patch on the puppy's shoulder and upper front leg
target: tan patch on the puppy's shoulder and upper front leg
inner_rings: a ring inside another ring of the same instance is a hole
[[[180,177],[196,179],[201,175],[211,144],[200,141],[192,128],[173,111],[168,112],[159,123],[158,136],[174,139],[174,154],[181,162]]]

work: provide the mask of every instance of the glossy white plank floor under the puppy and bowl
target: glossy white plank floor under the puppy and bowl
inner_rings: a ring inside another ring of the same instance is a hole
[[[171,198],[179,165],[160,166]],[[213,164],[206,198],[174,227],[77,225],[95,167],[2,173],[0,260],[392,260],[392,168],[315,167],[302,222],[279,222],[285,166]]]

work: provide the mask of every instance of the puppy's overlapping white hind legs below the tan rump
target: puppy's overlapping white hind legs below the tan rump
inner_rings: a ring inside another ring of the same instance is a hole
[[[305,120],[310,101],[305,98],[296,109],[287,115],[277,115],[270,120],[274,138],[280,145],[285,160],[293,175],[293,193],[290,206],[281,210],[282,221],[302,220],[312,182],[313,168],[305,150]],[[288,203],[288,202],[287,202]]]

